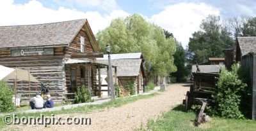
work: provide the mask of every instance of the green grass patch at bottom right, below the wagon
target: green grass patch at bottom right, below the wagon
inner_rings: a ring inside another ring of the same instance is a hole
[[[218,117],[211,117],[207,123],[195,126],[196,114],[184,112],[184,106],[179,105],[163,114],[156,121],[148,120],[147,128],[137,130],[255,130],[256,121],[235,120]]]

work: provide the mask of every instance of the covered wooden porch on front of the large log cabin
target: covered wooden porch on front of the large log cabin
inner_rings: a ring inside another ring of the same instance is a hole
[[[115,69],[113,77],[116,79],[116,67],[112,67]],[[102,90],[104,78],[100,73],[102,68],[108,69],[108,64],[98,63],[90,59],[68,59],[65,62],[65,99],[74,99],[77,88],[83,86],[90,90],[92,97],[102,97],[102,91],[109,94],[109,86],[107,90]],[[106,74],[108,73],[106,72]]]

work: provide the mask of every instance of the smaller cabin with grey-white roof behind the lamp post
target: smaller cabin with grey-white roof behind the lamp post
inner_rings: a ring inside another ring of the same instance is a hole
[[[96,60],[102,64],[108,64],[108,55]],[[127,82],[133,81],[136,93],[143,92],[143,80],[146,81],[145,71],[143,68],[142,53],[120,53],[111,54],[111,64],[116,66],[116,77],[121,85],[125,87]],[[106,71],[102,69],[102,74],[106,75]],[[113,72],[113,74],[115,74]]]

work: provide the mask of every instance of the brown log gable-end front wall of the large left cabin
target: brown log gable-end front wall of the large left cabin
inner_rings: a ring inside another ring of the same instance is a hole
[[[76,37],[73,39],[73,41],[70,43],[70,46],[67,46],[65,48],[65,58],[69,59],[70,55],[72,53],[79,53],[81,52],[81,45],[80,45],[80,38],[83,36],[84,38],[84,52],[86,53],[92,53],[95,52],[93,49],[92,43],[90,39],[88,38],[88,35],[86,34],[86,31],[84,29],[81,29]],[[87,58],[87,59],[92,59],[95,60],[95,58]],[[97,95],[96,89],[97,89],[97,67],[93,64],[66,64],[65,65],[65,93],[67,93],[66,97],[67,99],[74,99],[74,92],[76,92],[77,87],[82,86],[81,85],[81,67],[84,67],[84,86],[88,88],[89,84],[91,85],[92,88],[92,95]],[[70,76],[70,71],[72,68],[76,69],[76,87],[70,88],[71,84],[71,76]],[[91,71],[89,71],[89,69]],[[90,75],[88,73],[91,73]],[[88,78],[90,76],[90,78]]]

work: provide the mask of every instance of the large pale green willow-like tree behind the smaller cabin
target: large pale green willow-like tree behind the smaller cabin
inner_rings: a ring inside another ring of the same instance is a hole
[[[96,38],[104,52],[108,43],[111,53],[143,52],[151,64],[152,76],[167,76],[177,70],[173,63],[174,39],[166,39],[161,27],[147,22],[141,15],[112,20],[109,27],[97,33]]]

